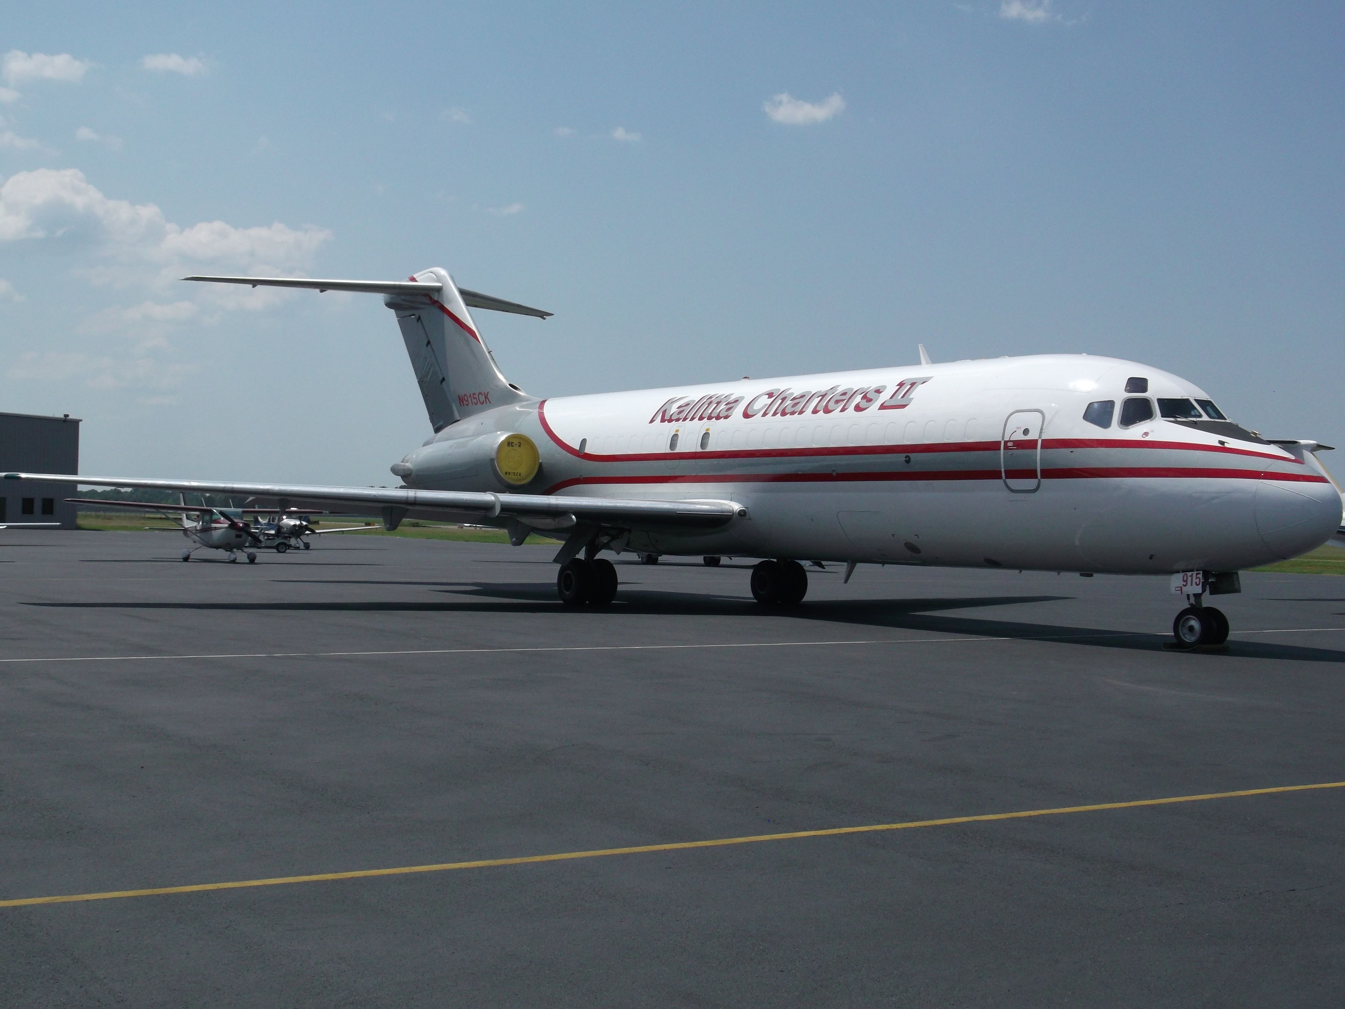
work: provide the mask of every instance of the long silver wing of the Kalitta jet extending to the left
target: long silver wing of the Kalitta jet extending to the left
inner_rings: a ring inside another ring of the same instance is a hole
[[[599,525],[655,525],[677,527],[722,526],[734,515],[746,515],[732,500],[640,500],[632,498],[577,498],[543,494],[490,494],[477,491],[416,491],[406,487],[309,487],[289,483],[217,483],[213,480],[153,480],[134,476],[83,476],[75,474],[4,474],[5,480],[73,483],[93,487],[143,487],[188,494],[231,494],[239,498],[288,498],[340,502],[342,504],[377,506],[397,511],[405,509],[447,511],[479,518],[546,518],[568,527],[578,522]],[[98,502],[105,504],[109,502]],[[125,503],[125,502],[122,502]],[[163,504],[139,507],[163,509]],[[202,511],[178,504],[169,510]],[[566,521],[573,519],[573,522]]]

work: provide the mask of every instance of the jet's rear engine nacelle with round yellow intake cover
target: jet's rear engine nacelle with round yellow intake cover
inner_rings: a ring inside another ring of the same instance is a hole
[[[437,491],[516,491],[541,468],[541,455],[527,435],[491,432],[432,441],[394,463],[408,487]]]

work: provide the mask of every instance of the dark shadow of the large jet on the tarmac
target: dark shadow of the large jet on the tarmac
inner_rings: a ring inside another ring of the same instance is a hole
[[[342,580],[332,580],[342,581]],[[348,584],[348,583],[343,583]],[[354,583],[364,584],[364,583]],[[381,584],[381,583],[375,583]],[[492,584],[477,583],[382,583],[432,585],[436,592],[473,596],[479,601],[299,601],[276,600],[266,603],[28,603],[50,608],[90,609],[206,609],[215,612],[366,612],[366,613],[561,613],[566,612],[555,600],[550,584]],[[993,620],[986,618],[950,616],[933,611],[971,609],[1025,603],[1056,603],[1072,596],[967,596],[951,599],[886,599],[886,600],[816,600],[788,609],[768,609],[741,596],[706,596],[681,592],[624,589],[617,601],[601,615],[620,620],[625,616],[788,616],[850,627],[893,628],[923,631],[939,635],[970,638],[1007,638],[1020,640],[1054,640],[1065,644],[1088,644],[1124,651],[1159,652],[1167,635],[1143,631],[1115,631],[1100,627],[1071,627],[1065,624],[1025,620]],[[577,609],[576,616],[596,616],[599,611]],[[1178,652],[1180,654],[1180,652]],[[1345,651],[1311,648],[1298,644],[1231,640],[1224,652],[1239,658],[1279,659],[1290,662],[1345,663]]]

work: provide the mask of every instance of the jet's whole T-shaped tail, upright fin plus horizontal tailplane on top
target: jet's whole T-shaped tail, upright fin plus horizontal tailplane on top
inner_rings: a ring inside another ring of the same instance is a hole
[[[406,354],[416,371],[430,426],[440,432],[473,413],[527,400],[500,373],[469,308],[512,312],[546,319],[550,312],[529,308],[476,291],[459,288],[448,272],[436,266],[408,280],[308,280],[300,277],[183,277],[217,284],[356,291],[382,295],[397,313]]]

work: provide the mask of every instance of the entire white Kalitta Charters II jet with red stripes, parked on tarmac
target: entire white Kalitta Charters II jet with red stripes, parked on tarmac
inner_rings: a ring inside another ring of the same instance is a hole
[[[1219,644],[1206,593],[1341,525],[1315,441],[1268,440],[1196,385],[1088,355],[928,362],[823,375],[538,400],[508,382],[471,308],[549,312],[406,281],[187,277],[383,295],[434,433],[391,467],[399,488],[47,474],[13,478],[375,506],[564,538],[557,591],[605,605],[615,553],[765,558],[753,596],[796,604],[799,558],[1166,574],[1181,646]]]

